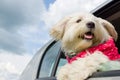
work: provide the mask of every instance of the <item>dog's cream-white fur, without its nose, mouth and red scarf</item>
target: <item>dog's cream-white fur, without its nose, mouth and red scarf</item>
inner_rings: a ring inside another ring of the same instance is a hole
[[[81,21],[76,23],[79,19]],[[82,39],[81,36],[89,31],[86,24],[91,21],[95,24],[95,29],[91,30],[94,33],[94,39]],[[62,48],[67,53],[70,51],[74,53],[80,52],[103,43],[111,37],[117,39],[114,26],[92,14],[77,14],[65,17],[51,29],[50,34],[56,40],[61,41]],[[78,58],[71,64],[68,63],[63,66],[58,73],[57,80],[85,80],[97,70],[102,70],[102,65],[109,62],[111,61],[102,52],[96,51],[85,58]]]

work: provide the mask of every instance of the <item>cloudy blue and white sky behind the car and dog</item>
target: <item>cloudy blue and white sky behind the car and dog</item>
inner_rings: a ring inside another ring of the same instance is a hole
[[[0,0],[0,80],[16,80],[62,17],[106,0]]]

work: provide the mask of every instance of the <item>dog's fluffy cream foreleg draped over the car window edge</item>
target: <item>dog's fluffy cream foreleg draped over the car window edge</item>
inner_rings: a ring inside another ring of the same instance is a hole
[[[101,64],[107,61],[108,58],[101,52],[95,52],[85,58],[78,58],[72,64],[68,63],[61,68],[57,80],[84,80],[96,72]]]

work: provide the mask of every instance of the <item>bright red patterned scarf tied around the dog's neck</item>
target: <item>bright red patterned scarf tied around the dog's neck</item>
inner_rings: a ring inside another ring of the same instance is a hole
[[[72,58],[69,58],[68,56],[66,56],[68,63],[71,63],[72,61],[77,60],[77,58],[84,58],[87,55],[86,51],[88,51],[90,54],[93,54],[95,51],[101,51],[110,60],[120,59],[120,54],[118,53],[118,49],[115,46],[114,40],[111,38],[105,43],[102,43],[97,46],[93,46],[87,50],[84,50]]]

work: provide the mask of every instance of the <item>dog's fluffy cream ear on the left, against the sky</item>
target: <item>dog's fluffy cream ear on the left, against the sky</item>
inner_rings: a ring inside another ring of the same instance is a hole
[[[62,39],[65,31],[65,26],[71,17],[65,17],[60,20],[56,25],[54,25],[50,30],[50,35],[56,40]]]

